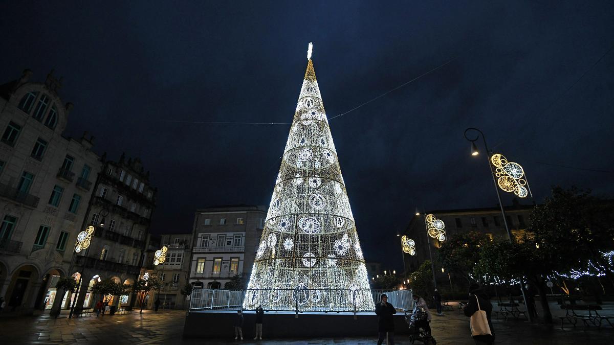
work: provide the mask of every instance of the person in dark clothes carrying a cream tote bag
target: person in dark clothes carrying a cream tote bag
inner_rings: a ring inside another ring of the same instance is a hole
[[[477,345],[490,345],[495,340],[492,328],[492,304],[480,285],[471,284],[469,287],[469,303],[464,309],[465,316],[469,317],[471,335]]]

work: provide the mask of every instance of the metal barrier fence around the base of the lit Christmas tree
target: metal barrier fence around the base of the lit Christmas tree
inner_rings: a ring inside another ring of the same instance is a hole
[[[388,303],[397,310],[413,310],[411,290],[333,290],[303,289],[300,295],[294,289],[213,290],[193,289],[190,311],[255,309],[297,312],[373,312],[373,305],[386,294]],[[246,300],[247,298],[247,300]],[[371,301],[366,299],[371,298]],[[283,301],[287,300],[287,303]],[[279,303],[282,301],[282,303]],[[371,304],[373,303],[373,304]],[[286,308],[279,307],[286,306]]]

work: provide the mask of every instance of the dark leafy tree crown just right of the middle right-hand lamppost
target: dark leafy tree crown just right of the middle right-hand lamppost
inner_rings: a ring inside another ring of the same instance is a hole
[[[458,233],[450,236],[437,250],[437,259],[441,266],[452,273],[473,281],[473,268],[480,260],[480,248],[490,243],[488,236],[477,231]]]

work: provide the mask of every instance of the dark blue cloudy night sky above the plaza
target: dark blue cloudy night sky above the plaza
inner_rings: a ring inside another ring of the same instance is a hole
[[[199,207],[267,205],[308,42],[367,260],[400,268],[414,207],[496,206],[465,128],[551,185],[614,196],[614,2],[10,1],[0,83],[64,76],[64,134],[140,157],[158,187],[153,233]],[[481,147],[481,141],[480,141]],[[505,196],[504,203],[511,203]],[[391,250],[394,249],[394,250]],[[398,249],[398,250],[397,250]]]

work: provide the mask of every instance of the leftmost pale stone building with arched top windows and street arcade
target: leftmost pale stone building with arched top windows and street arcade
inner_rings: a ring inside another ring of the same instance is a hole
[[[64,136],[72,104],[60,98],[61,79],[31,76],[0,85],[0,296],[15,312],[56,300],[103,167],[93,136]]]

